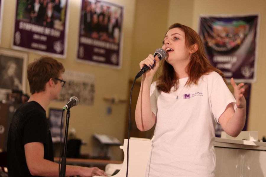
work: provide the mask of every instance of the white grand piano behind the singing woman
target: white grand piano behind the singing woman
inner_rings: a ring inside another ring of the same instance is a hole
[[[248,136],[248,133],[244,134]],[[216,177],[266,176],[266,142],[258,142],[252,138],[244,138],[246,140],[215,138]],[[151,151],[150,141],[150,139],[130,138],[128,177],[145,176]],[[127,139],[120,148],[124,151],[124,161],[122,164],[107,164],[108,176],[126,177]],[[120,171],[112,175],[117,170]]]

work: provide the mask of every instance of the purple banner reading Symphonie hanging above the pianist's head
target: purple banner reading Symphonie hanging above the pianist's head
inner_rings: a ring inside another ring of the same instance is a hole
[[[66,57],[68,0],[17,0],[12,48]]]

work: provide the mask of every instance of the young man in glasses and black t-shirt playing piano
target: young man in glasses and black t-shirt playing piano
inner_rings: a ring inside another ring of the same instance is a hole
[[[27,77],[30,99],[14,113],[8,134],[7,156],[9,177],[59,176],[59,164],[53,162],[51,133],[46,121],[46,108],[58,98],[65,81],[65,69],[57,60],[43,56],[30,63]],[[67,165],[66,176],[106,176],[97,167]]]

